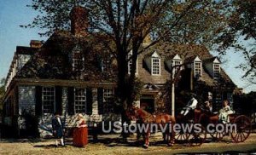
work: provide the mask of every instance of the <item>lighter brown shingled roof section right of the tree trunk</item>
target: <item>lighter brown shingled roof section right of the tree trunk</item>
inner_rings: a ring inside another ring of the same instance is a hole
[[[201,45],[158,43],[150,47],[145,53],[139,56],[138,64],[143,63],[143,60],[148,58],[148,55],[152,55],[154,51],[157,51],[159,53],[161,60],[172,60],[175,55],[180,55],[180,57],[184,60],[184,63],[192,62],[197,56],[200,57],[201,60],[208,60],[212,59],[213,57],[206,49],[206,47]],[[138,78],[140,78],[143,83],[162,84],[166,83],[166,81],[170,79],[170,72],[165,67],[161,67],[161,76],[151,76],[146,66],[138,67]],[[220,76],[221,78],[219,79],[219,81],[221,82],[218,82],[211,77],[210,73],[207,72],[206,68],[202,69],[201,79],[208,86],[216,86],[221,83],[229,83],[235,86],[235,84],[223,70],[221,70]]]

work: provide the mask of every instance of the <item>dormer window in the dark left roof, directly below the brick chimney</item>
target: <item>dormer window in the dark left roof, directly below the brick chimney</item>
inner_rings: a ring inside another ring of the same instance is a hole
[[[73,70],[74,71],[84,70],[84,56],[79,50],[73,51]]]

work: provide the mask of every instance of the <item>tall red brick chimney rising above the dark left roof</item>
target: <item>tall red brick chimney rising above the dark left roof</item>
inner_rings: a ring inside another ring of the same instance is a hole
[[[77,37],[86,36],[88,32],[88,9],[75,6],[70,12],[71,32]]]

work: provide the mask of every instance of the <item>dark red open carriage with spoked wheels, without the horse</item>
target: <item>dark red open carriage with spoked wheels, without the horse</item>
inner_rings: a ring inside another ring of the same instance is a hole
[[[236,113],[229,114],[228,117],[230,122],[222,123],[219,121],[218,113],[206,112],[202,108],[190,112],[188,117],[178,115],[176,117],[176,123],[201,124],[201,132],[195,133],[193,130],[192,132],[182,130],[176,133],[175,139],[176,141],[192,146],[200,146],[206,141],[207,135],[211,135],[212,139],[217,141],[221,141],[225,135],[231,135],[232,140],[236,143],[246,141],[252,129],[250,118]],[[218,129],[219,127],[221,128]]]

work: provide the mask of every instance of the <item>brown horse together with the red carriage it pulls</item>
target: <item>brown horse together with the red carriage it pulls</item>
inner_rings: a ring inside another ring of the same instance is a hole
[[[242,142],[247,140],[252,128],[250,118],[245,115],[230,114],[230,123],[221,123],[219,122],[217,113],[206,112],[201,108],[195,109],[194,112],[189,112],[186,117],[177,115],[174,118],[167,114],[154,116],[143,109],[132,107],[127,111],[127,116],[139,118],[140,123],[158,123],[161,125],[171,123],[172,132],[163,132],[163,138],[168,145],[172,145],[176,141],[189,146],[200,146],[209,136],[212,137],[212,140],[220,141],[225,135],[231,135],[232,140],[236,143]],[[174,132],[173,127],[175,124],[179,125],[179,132]],[[215,129],[209,132],[210,128],[208,127],[210,124],[212,128],[218,128],[220,125],[227,127],[230,124],[235,124],[236,129],[224,128],[223,131]],[[146,131],[143,134],[144,146],[148,147],[150,131]]]

